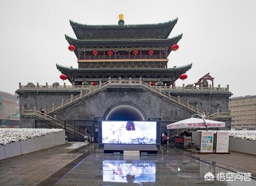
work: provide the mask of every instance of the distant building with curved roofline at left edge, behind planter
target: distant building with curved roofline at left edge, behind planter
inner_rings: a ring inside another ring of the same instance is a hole
[[[14,127],[20,124],[18,95],[0,91],[0,125]]]

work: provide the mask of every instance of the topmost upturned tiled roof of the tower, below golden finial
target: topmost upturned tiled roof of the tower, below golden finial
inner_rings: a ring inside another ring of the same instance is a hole
[[[154,24],[87,25],[70,20],[70,25],[78,39],[160,39],[170,35],[177,21],[178,18]]]

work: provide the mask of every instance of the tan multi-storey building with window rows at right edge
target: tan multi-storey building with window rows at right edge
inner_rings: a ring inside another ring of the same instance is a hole
[[[256,127],[256,95],[231,98],[229,109],[232,128]]]

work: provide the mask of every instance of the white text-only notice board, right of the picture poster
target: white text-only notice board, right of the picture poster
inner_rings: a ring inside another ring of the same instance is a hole
[[[216,153],[228,153],[229,131],[217,131]]]

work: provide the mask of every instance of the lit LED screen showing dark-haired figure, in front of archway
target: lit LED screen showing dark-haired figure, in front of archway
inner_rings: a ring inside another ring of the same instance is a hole
[[[102,121],[102,143],[156,144],[156,121]]]

